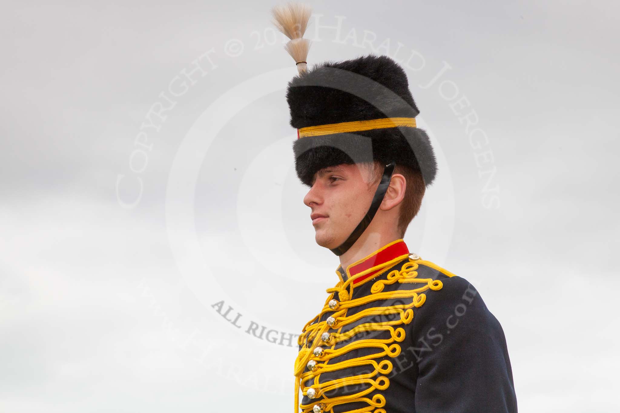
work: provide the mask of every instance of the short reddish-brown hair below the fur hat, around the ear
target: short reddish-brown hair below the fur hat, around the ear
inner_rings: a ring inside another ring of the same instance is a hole
[[[378,161],[373,162],[373,164],[374,168],[371,169],[373,173],[371,185],[381,180],[381,176],[383,175],[383,164]],[[405,165],[397,164],[394,168],[394,173],[400,173],[405,177],[405,181],[407,181],[405,197],[402,199],[401,211],[398,217],[398,230],[401,232],[401,237],[403,237],[410,222],[414,219],[415,215],[420,212],[426,185],[420,171],[415,171]]]

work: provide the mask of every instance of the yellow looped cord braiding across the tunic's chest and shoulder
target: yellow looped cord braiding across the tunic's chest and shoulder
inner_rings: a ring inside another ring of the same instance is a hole
[[[356,409],[355,413],[371,412],[373,413],[386,413],[384,409],[381,409],[385,405],[386,399],[381,393],[376,393],[372,398],[366,397],[374,390],[385,390],[389,387],[389,379],[384,376],[391,372],[392,362],[389,360],[382,360],[377,362],[375,359],[385,357],[386,355],[394,358],[401,354],[401,346],[397,344],[405,339],[405,330],[400,327],[402,324],[409,324],[414,318],[413,308],[418,308],[423,305],[426,300],[425,292],[428,289],[440,290],[443,284],[440,280],[433,280],[432,278],[418,279],[417,269],[418,263],[431,266],[435,269],[439,267],[429,261],[422,261],[420,257],[415,254],[411,254],[412,258],[409,258],[409,262],[405,263],[400,270],[387,274],[386,279],[377,280],[371,287],[371,293],[365,297],[356,298],[350,300],[352,296],[353,285],[351,284],[358,277],[362,277],[370,272],[379,270],[387,270],[394,264],[407,258],[407,255],[392,259],[387,263],[381,264],[381,267],[372,267],[366,271],[362,271],[359,274],[355,274],[355,277],[349,277],[346,282],[342,280],[334,287],[327,289],[326,292],[330,293],[329,297],[325,301],[325,305],[321,310],[321,313],[312,320],[308,321],[302,330],[302,334],[298,338],[298,344],[304,344],[303,348],[299,351],[299,355],[295,360],[294,375],[295,375],[295,397],[294,397],[294,412],[299,412],[299,407],[303,413],[320,413],[320,412],[333,412],[333,407],[339,404],[345,404],[350,402],[366,402],[368,407],[363,409]],[[443,269],[441,269],[443,270]],[[445,271],[445,270],[443,270]],[[443,272],[441,271],[441,272]],[[448,271],[444,272],[448,276],[454,274]],[[370,281],[371,279],[368,279]],[[366,280],[360,283],[364,284]],[[391,284],[410,284],[412,287],[419,285],[415,289],[411,290],[396,290],[383,292],[385,285]],[[421,285],[420,285],[421,284]],[[348,289],[351,289],[351,293]],[[334,297],[339,298],[335,300]],[[402,305],[391,306],[379,306],[367,308],[355,315],[347,316],[348,308],[363,305],[373,301],[386,300],[388,298],[401,298],[406,300],[411,298],[411,302]],[[329,311],[335,311],[332,316],[325,321],[314,323],[314,321],[321,320],[321,316]],[[394,321],[386,321],[382,323],[362,323],[355,328],[347,331],[347,333],[341,333],[343,326],[354,323],[361,318],[373,315],[390,315],[398,314],[400,319]],[[314,323],[314,324],[312,324]],[[329,333],[328,330],[337,329],[337,333]],[[335,344],[340,341],[345,341],[355,336],[358,333],[365,331],[389,331],[391,338],[389,339],[361,339],[354,341],[340,349],[334,349]],[[308,342],[312,342],[311,346],[307,346]],[[321,345],[331,348],[324,349]],[[360,348],[374,347],[377,352],[363,357],[356,357],[355,359],[345,360],[343,362],[328,364],[329,360],[334,357],[346,354],[351,350]],[[326,381],[325,383],[319,383],[319,376],[324,372],[334,372],[336,370],[342,370],[348,367],[355,367],[361,365],[368,365],[374,368],[374,371],[368,374],[348,376],[339,378],[338,380]],[[309,372],[305,372],[305,368],[308,367]],[[304,387],[302,389],[303,395],[308,396],[311,399],[317,399],[317,402],[312,404],[299,404],[299,388],[303,386],[309,379],[314,378],[314,385],[311,387]],[[338,396],[334,398],[326,398],[325,393],[350,385],[357,385],[365,383],[368,385],[363,391],[346,396]]]

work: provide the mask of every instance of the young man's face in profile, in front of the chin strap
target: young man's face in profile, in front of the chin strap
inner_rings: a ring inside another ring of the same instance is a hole
[[[370,208],[377,186],[371,180],[370,164],[337,165],[314,174],[304,204],[312,209],[317,244],[336,248],[347,240]]]

